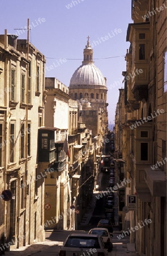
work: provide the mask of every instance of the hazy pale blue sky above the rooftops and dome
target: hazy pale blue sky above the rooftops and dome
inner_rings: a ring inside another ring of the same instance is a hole
[[[118,88],[123,87],[122,71],[126,70],[131,0],[1,0],[0,6],[0,33],[7,29],[8,34],[26,39],[26,30],[14,29],[25,28],[29,18],[30,41],[46,56],[45,76],[56,77],[67,86],[82,64],[90,36],[95,65],[107,79],[109,123],[114,123]]]

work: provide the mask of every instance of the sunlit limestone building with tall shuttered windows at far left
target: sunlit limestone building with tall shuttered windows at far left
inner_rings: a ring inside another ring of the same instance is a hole
[[[17,37],[0,35],[0,193],[12,194],[9,201],[0,199],[0,239],[15,248],[45,240],[44,178],[37,160],[45,57]]]

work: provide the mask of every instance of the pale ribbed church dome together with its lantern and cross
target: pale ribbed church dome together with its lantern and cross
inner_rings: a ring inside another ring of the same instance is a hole
[[[93,49],[89,44],[89,36],[87,46],[84,49],[84,60],[82,65],[71,77],[70,86],[72,85],[103,85],[106,86],[104,76],[99,68],[93,62]]]

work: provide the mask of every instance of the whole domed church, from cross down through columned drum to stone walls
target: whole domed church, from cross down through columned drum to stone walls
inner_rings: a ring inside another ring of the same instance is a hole
[[[72,99],[78,100],[79,122],[85,123],[87,129],[92,130],[93,137],[100,135],[102,138],[108,130],[106,79],[93,62],[89,37],[82,65],[71,77],[69,93]]]

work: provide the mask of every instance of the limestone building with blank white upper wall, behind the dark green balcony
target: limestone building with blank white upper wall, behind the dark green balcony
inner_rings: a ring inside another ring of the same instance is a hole
[[[45,177],[46,228],[70,228],[70,179],[68,156],[63,145],[68,140],[68,88],[54,77],[45,78],[45,129],[53,130],[53,172]],[[43,163],[44,168],[44,163]],[[45,167],[46,168],[46,167]]]

